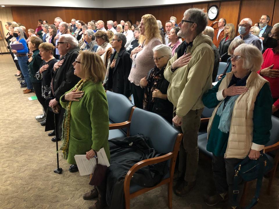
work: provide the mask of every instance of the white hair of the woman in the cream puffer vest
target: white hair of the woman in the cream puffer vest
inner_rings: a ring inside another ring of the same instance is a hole
[[[258,71],[263,63],[262,52],[253,44],[240,44],[234,54],[243,58],[242,68],[248,71]]]

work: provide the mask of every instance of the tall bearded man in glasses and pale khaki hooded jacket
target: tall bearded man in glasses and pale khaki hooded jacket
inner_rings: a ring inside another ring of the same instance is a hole
[[[184,12],[177,33],[183,41],[169,60],[164,77],[170,82],[167,97],[174,105],[174,127],[183,133],[180,144],[179,168],[174,188],[178,196],[186,196],[196,182],[198,169],[198,129],[204,109],[203,94],[212,88],[214,53],[212,39],[202,32],[207,14],[198,8]]]

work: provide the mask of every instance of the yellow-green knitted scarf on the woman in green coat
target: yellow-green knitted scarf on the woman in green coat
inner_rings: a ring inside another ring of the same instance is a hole
[[[74,87],[74,89],[78,88],[76,91],[81,91],[83,85],[91,80],[92,78],[89,77],[87,79],[80,80],[78,84]],[[62,129],[62,138],[63,138],[63,145],[60,147],[60,150],[62,150],[62,157],[67,160],[68,154],[69,154],[69,133],[70,133],[70,112],[71,112],[71,104],[72,101],[69,101],[66,106],[66,112],[64,115],[63,120],[63,129]]]

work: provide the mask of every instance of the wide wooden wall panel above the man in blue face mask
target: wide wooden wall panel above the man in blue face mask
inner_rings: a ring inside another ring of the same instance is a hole
[[[259,19],[262,17],[263,14],[269,15],[269,17],[271,18],[273,13],[274,1],[275,0],[242,0],[239,22],[242,19],[249,17],[252,19],[254,25],[255,23],[259,22]]]

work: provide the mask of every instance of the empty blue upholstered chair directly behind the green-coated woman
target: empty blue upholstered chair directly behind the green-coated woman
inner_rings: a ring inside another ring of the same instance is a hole
[[[115,129],[115,125],[126,124],[131,120],[132,116],[132,107],[134,106],[130,100],[119,93],[114,93],[111,91],[106,91],[108,99],[108,116],[110,120],[110,131],[108,139],[117,138],[117,137],[126,137],[127,128]]]

